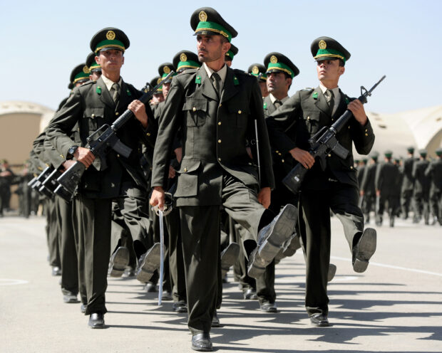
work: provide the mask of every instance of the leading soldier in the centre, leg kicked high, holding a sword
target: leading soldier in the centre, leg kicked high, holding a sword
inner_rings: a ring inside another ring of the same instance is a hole
[[[220,206],[250,232],[251,238],[243,245],[250,258],[250,274],[255,276],[264,272],[290,236],[296,208],[287,206],[265,226],[273,218],[265,208],[274,180],[261,92],[255,78],[225,65],[225,53],[237,32],[209,7],[197,9],[190,24],[203,65],[173,78],[155,143],[150,204],[163,208],[173,137],[181,129],[183,159],[174,197],[180,209],[187,325],[192,349],[208,351],[212,350],[209,332],[221,283]],[[255,120],[260,182],[257,156],[250,159],[246,150],[247,140],[256,139]]]

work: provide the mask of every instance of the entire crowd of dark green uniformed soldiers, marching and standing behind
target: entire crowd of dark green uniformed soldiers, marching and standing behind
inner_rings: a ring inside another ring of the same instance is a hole
[[[190,25],[197,53],[179,51],[142,90],[120,76],[129,38],[118,28],[98,31],[86,63],[71,73],[69,97],[34,141],[29,172],[16,177],[2,164],[0,214],[11,183],[21,184],[24,216],[36,212],[33,194],[41,192],[53,275],[61,275],[63,300],[81,302],[92,328],[104,327],[108,275],[135,277],[148,292],[158,286],[175,312],[187,312],[192,349],[210,351],[230,267],[245,300],[277,312],[277,264],[299,248],[307,314],[312,325],[328,326],[331,214],[343,225],[354,270],[364,272],[376,251],[376,231],[364,228],[371,211],[377,225],[385,209],[390,226],[410,211],[413,222],[442,224],[442,150],[431,162],[424,151],[415,159],[412,148],[405,160],[387,151],[384,163],[375,153],[368,163],[354,161],[353,145],[367,155],[375,137],[362,103],[339,89],[350,53],[333,38],[316,38],[310,48],[317,88],[289,97],[299,69],[287,56],[273,52],[264,65],[232,69],[235,28],[209,7],[195,10]],[[126,110],[133,118],[115,130],[118,144],[94,155],[88,137]],[[315,162],[309,139],[346,110],[354,117],[336,137],[348,157],[331,152]],[[70,200],[31,180],[80,163],[86,171]],[[308,172],[294,194],[282,179],[297,163]]]

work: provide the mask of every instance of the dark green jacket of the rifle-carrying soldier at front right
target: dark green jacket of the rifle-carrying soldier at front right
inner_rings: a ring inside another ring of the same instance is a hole
[[[329,105],[318,87],[316,89],[299,90],[292,95],[279,109],[270,115],[266,122],[269,137],[276,149],[282,153],[294,147],[309,150],[309,138],[313,137],[322,127],[332,125],[344,112],[351,98],[341,93],[341,100],[334,115],[330,115]],[[327,157],[329,177],[341,183],[358,187],[356,170],[352,154],[352,142],[359,154],[368,154],[374,144],[374,133],[369,120],[362,126],[356,119],[351,119],[336,135],[339,143],[349,150],[346,159],[331,153]],[[323,189],[324,174],[317,161],[309,169],[302,184],[302,189]]]

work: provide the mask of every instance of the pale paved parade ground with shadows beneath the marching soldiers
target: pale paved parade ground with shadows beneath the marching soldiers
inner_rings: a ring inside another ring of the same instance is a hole
[[[192,352],[186,314],[135,279],[108,280],[105,330],[88,328],[80,304],[65,304],[46,260],[45,220],[0,218],[0,352]],[[276,270],[279,312],[224,285],[217,352],[442,352],[442,227],[396,221],[378,228],[366,273],[354,273],[341,224],[332,218],[331,327],[304,310],[304,257]]]

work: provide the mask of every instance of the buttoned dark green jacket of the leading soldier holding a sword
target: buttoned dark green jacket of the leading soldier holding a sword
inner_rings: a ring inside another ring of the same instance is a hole
[[[221,204],[222,176],[226,173],[259,189],[257,167],[246,150],[247,141],[256,139],[255,120],[260,186],[274,188],[269,138],[256,78],[227,68],[219,98],[204,68],[175,76],[160,118],[152,186],[165,187],[173,140],[180,130],[183,160],[175,191],[178,206]]]

